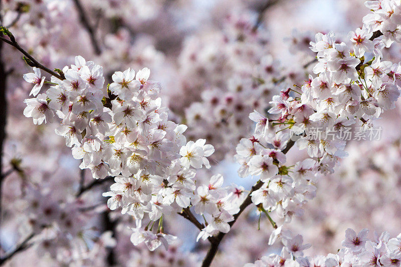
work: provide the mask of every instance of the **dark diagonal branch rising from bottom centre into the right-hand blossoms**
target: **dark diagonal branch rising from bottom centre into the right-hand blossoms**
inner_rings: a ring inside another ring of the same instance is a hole
[[[287,143],[287,146],[282,150],[282,152],[285,154],[287,153],[291,147],[295,144],[294,141],[289,140]],[[248,207],[251,203],[252,203],[252,196],[251,194],[258,190],[259,188],[262,187],[262,185],[264,184],[264,182],[262,181],[258,181],[254,186],[252,186],[251,191],[249,192],[247,198],[245,198],[245,200],[242,202],[242,204],[240,205],[240,211],[234,215],[234,220],[230,221],[230,227],[233,226],[233,224],[237,221],[238,217],[241,215],[241,213],[245,210],[246,207]],[[216,237],[216,241],[212,242],[210,249],[208,251],[208,253],[206,254],[206,257],[202,263],[202,267],[208,267],[210,266],[210,264],[212,263],[213,258],[215,257],[217,250],[219,249],[219,245],[220,242],[222,241],[223,237],[226,235],[226,233],[220,232]]]

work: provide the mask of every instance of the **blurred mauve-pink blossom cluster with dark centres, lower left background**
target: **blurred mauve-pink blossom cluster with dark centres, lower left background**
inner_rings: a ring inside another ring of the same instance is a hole
[[[107,248],[116,245],[111,231],[95,235],[99,229],[91,227],[87,218],[97,212],[88,210],[79,199],[60,202],[52,192],[34,187],[27,187],[25,197],[28,202],[21,212],[28,217],[28,225],[24,226],[37,234],[36,251],[41,256],[49,253],[51,258],[71,264],[74,261],[84,262],[92,256],[103,257]],[[94,248],[89,253],[85,253],[87,243],[92,243]],[[60,258],[61,254],[72,250],[81,253]]]

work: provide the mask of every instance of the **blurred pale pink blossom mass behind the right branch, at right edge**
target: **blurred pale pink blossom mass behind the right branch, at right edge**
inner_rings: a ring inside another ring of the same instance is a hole
[[[387,129],[392,127],[383,131]],[[309,254],[337,249],[348,227],[386,230],[390,235],[399,232],[401,201],[394,197],[400,190],[397,135],[396,139],[386,137],[374,145],[368,140],[350,143],[347,145],[349,156],[340,160],[335,173],[325,177],[319,174],[322,177],[316,199],[304,206],[301,217],[294,217],[288,224],[292,231],[302,231],[304,238],[313,243]],[[353,209],[343,208],[347,206],[355,208],[357,214]],[[383,217],[386,219],[377,219]]]

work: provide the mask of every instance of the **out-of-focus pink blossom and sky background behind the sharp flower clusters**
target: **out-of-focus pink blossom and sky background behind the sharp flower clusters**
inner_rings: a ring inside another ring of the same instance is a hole
[[[216,148],[213,167],[198,179],[222,173],[226,185],[247,190],[233,155],[252,133],[248,115],[264,112],[271,97],[311,72],[315,33],[345,40],[369,11],[362,0],[3,0],[1,24],[20,45],[50,69],[83,56],[103,66],[106,83],[115,71],[148,67],[162,84],[163,105],[172,120],[188,125],[189,140],[205,138]],[[401,59],[399,45],[384,52]],[[57,122],[33,125],[23,116],[31,85],[21,54],[0,46],[2,138],[0,255],[34,233],[8,266],[199,265],[208,248],[195,242],[198,230],[179,216],[165,228],[178,236],[166,251],[150,252],[129,241],[132,219],[110,211],[101,196],[111,181],[93,183],[90,172],[54,134]],[[255,79],[262,75],[264,82]],[[48,74],[45,74],[49,78]],[[320,179],[317,197],[288,227],[312,248],[307,255],[336,252],[347,228],[392,235],[401,225],[400,109],[384,114],[379,141],[355,141],[333,175]],[[7,123],[4,119],[7,119]],[[289,155],[291,159],[294,152]],[[297,154],[299,160],[299,153]],[[93,185],[78,195],[82,185]],[[49,213],[50,210],[50,213]],[[54,211],[65,214],[62,219]],[[38,218],[49,227],[39,227]],[[226,236],[215,266],[241,266],[279,247],[269,247],[265,221],[257,230],[255,210]],[[63,227],[60,225],[63,224]],[[66,230],[67,229],[67,230]],[[153,265],[152,265],[153,264]]]

